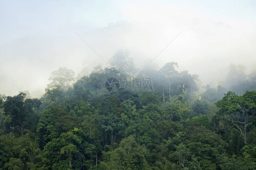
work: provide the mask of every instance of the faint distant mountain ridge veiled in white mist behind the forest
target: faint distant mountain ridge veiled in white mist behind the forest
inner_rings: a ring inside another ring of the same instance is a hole
[[[193,23],[200,25],[198,20],[194,20]],[[212,24],[216,27],[223,26],[218,23]],[[225,28],[226,31],[228,29],[231,28]],[[163,34],[163,31],[167,34]],[[179,34],[179,31],[177,28],[167,31],[166,27],[152,25],[150,21],[119,21],[86,33],[77,32],[82,39],[75,32],[65,36],[24,36],[14,39],[0,47],[0,92],[14,95],[18,91],[29,90],[32,96],[39,97],[44,93],[52,71],[59,67],[67,67],[74,70],[76,75],[82,70],[88,75],[93,66],[107,66],[110,58],[121,49],[128,50],[129,58],[133,59],[135,66],[143,69]],[[245,56],[243,47],[243,50],[239,51],[240,48],[237,46],[241,39],[223,48],[224,42],[217,42],[214,39],[213,43],[209,39],[209,42],[202,43],[203,41],[199,40],[205,39],[205,35],[191,31],[193,28],[183,30],[149,67],[160,69],[165,63],[176,61],[179,63],[180,71],[189,70],[193,74],[199,74],[204,84],[214,85],[218,85],[218,81],[224,78],[223,72],[228,71],[230,63],[244,65],[248,68],[245,70],[248,73],[252,70],[255,58],[251,58],[249,51]],[[192,39],[188,38],[189,36],[192,36]],[[246,48],[249,47],[250,45],[247,45]]]

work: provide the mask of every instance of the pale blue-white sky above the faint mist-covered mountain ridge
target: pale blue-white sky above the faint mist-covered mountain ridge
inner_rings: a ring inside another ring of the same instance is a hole
[[[170,11],[161,9],[170,7]],[[256,22],[256,1],[0,1],[0,43],[26,35],[62,36],[70,32],[103,28],[119,20],[157,20],[172,14],[219,22]],[[163,10],[162,13],[160,11]],[[146,13],[140,13],[140,11]],[[152,13],[153,14],[152,14]],[[155,14],[154,14],[155,12]],[[140,16],[137,16],[140,15]],[[152,17],[154,15],[154,17]],[[150,18],[151,17],[151,18]]]

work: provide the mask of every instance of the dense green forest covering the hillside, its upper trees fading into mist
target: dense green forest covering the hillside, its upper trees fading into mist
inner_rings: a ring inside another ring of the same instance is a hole
[[[256,72],[218,86],[119,50],[89,75],[60,67],[45,94],[0,95],[0,170],[254,170]]]

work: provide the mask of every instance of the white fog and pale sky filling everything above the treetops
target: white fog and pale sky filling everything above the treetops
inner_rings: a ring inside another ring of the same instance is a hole
[[[40,97],[52,71],[88,75],[120,49],[142,70],[179,33],[147,67],[174,61],[218,85],[230,63],[247,74],[256,64],[255,1],[0,1],[0,21],[0,94],[10,96]]]

